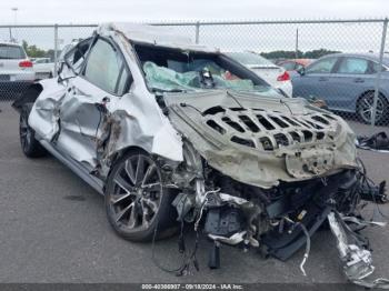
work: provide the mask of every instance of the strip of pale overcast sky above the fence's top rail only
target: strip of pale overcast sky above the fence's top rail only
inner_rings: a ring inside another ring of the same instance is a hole
[[[0,22],[381,18],[388,0],[1,0]]]

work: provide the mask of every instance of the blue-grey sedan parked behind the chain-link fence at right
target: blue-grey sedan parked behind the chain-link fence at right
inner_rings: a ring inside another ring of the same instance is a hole
[[[376,123],[389,112],[389,57],[383,58]],[[293,97],[319,98],[330,110],[357,113],[371,122],[379,58],[373,53],[336,53],[318,59],[293,76]]]

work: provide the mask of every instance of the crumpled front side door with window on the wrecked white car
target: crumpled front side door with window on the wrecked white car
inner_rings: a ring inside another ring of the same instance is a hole
[[[88,170],[98,164],[98,136],[110,103],[128,92],[129,70],[110,40],[97,39],[77,77],[68,82],[60,109],[58,149]]]

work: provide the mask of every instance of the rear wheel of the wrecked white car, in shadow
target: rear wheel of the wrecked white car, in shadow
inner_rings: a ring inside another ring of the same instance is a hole
[[[36,140],[36,132],[28,124],[32,103],[22,106],[19,119],[19,138],[21,150],[28,158],[40,158],[47,154],[46,149]]]

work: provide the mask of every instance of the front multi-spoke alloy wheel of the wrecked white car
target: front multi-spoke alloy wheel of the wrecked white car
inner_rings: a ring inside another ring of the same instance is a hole
[[[130,151],[114,163],[107,180],[108,221],[126,240],[151,241],[157,227],[157,238],[169,237],[177,230],[174,194],[163,188],[161,171],[148,153]]]

